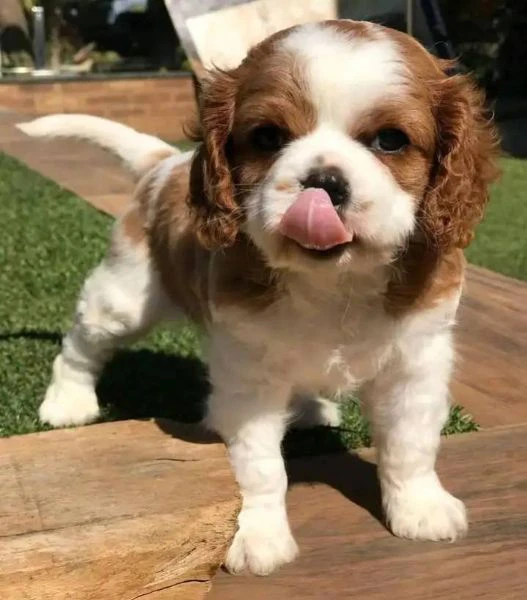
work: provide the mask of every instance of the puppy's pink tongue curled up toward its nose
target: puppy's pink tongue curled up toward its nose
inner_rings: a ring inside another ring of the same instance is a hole
[[[304,248],[316,250],[328,250],[353,239],[329,194],[321,188],[308,188],[298,194],[280,222],[280,233]]]

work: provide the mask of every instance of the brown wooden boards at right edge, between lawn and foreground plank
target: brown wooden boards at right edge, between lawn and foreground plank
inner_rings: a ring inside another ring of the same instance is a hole
[[[484,427],[527,422],[526,307],[525,282],[469,267],[452,392]]]

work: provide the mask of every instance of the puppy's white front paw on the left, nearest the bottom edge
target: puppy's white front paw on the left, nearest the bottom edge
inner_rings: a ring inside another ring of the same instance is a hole
[[[297,554],[285,510],[244,509],[225,567],[233,574],[247,569],[254,575],[269,575]]]

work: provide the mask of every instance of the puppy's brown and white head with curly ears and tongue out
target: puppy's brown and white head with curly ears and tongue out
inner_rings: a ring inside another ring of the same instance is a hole
[[[409,36],[282,31],[204,82],[190,202],[201,241],[271,266],[367,270],[412,238],[466,246],[495,177],[480,94]]]

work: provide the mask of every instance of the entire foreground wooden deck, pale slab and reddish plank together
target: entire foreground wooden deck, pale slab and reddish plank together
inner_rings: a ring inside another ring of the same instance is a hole
[[[525,598],[525,424],[445,440],[439,473],[470,518],[454,544],[385,529],[372,451],[291,461],[300,556],[266,578],[219,572],[206,594],[239,506],[211,442],[169,421],[0,440],[2,600]]]

